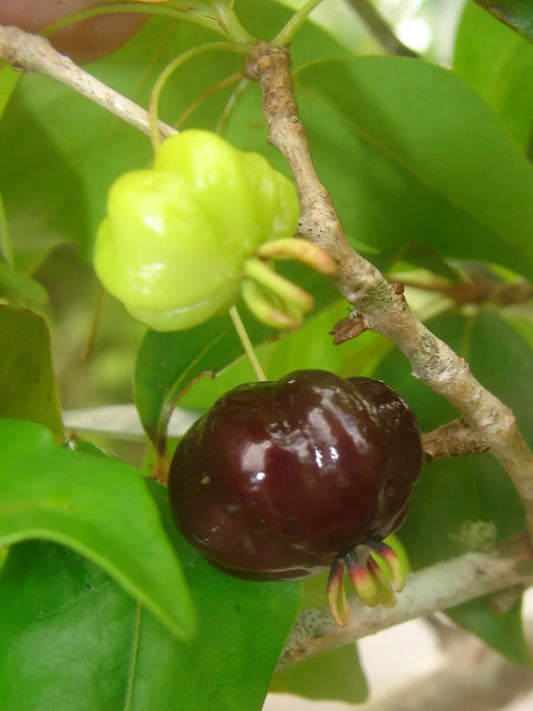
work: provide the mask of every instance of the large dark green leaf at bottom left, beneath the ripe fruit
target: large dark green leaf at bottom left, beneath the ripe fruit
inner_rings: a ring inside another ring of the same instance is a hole
[[[63,547],[14,546],[0,575],[2,709],[260,711],[299,586],[216,571],[175,532],[164,490],[154,493],[193,591],[198,636],[176,639]]]

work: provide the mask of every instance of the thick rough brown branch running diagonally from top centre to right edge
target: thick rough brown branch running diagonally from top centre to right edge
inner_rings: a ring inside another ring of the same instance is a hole
[[[288,50],[259,43],[246,75],[260,82],[269,140],[286,158],[302,208],[299,232],[327,251],[338,266],[337,285],[355,307],[359,328],[381,333],[406,355],[413,375],[445,397],[488,446],[511,478],[533,531],[533,454],[512,411],[486,390],[468,364],[411,312],[401,289],[391,285],[349,244],[331,197],[320,182],[298,116]]]

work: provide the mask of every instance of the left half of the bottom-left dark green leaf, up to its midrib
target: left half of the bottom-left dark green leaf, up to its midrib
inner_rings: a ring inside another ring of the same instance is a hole
[[[46,541],[0,571],[0,707],[127,709],[137,603],[101,568]]]

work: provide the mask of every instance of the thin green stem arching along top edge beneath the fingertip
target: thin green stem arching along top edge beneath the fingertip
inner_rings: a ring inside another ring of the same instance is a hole
[[[65,27],[70,27],[70,25],[76,22],[88,20],[91,17],[119,14],[162,15],[170,17],[173,20],[185,20],[185,22],[200,25],[201,27],[205,27],[212,32],[222,35],[223,37],[226,36],[225,31],[219,23],[215,19],[207,17],[206,15],[202,15],[191,10],[179,10],[165,5],[148,5],[143,3],[121,3],[120,5],[114,3],[112,5],[100,5],[99,7],[93,7],[89,10],[73,12],[71,15],[67,15],[66,17],[62,17],[60,20],[57,20],[57,22],[54,22],[53,25],[49,25],[42,30],[40,34],[44,37],[49,37]]]

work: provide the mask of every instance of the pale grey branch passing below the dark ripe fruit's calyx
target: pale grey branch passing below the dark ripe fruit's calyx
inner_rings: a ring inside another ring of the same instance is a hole
[[[358,598],[350,599],[352,614],[345,627],[332,620],[329,607],[303,610],[289,634],[279,670],[401,622],[531,583],[533,550],[526,536],[490,552],[466,553],[409,575],[393,608],[369,608]]]

